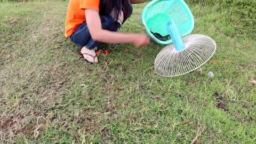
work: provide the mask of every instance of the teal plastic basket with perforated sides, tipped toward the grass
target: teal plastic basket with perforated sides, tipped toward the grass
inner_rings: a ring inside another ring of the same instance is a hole
[[[166,23],[173,21],[181,37],[189,35],[194,28],[194,17],[183,0],[154,0],[143,9],[141,20],[148,35],[158,44],[171,44],[172,39],[162,41],[152,33],[168,36]]]

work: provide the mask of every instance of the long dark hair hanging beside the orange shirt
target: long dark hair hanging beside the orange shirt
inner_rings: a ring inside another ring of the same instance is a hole
[[[111,12],[111,9],[113,8],[115,9],[115,15],[114,15],[115,21],[118,20],[118,15],[121,13],[121,9],[124,13],[125,18],[128,17],[131,11],[129,0],[101,0],[100,1],[101,15],[108,15]]]

